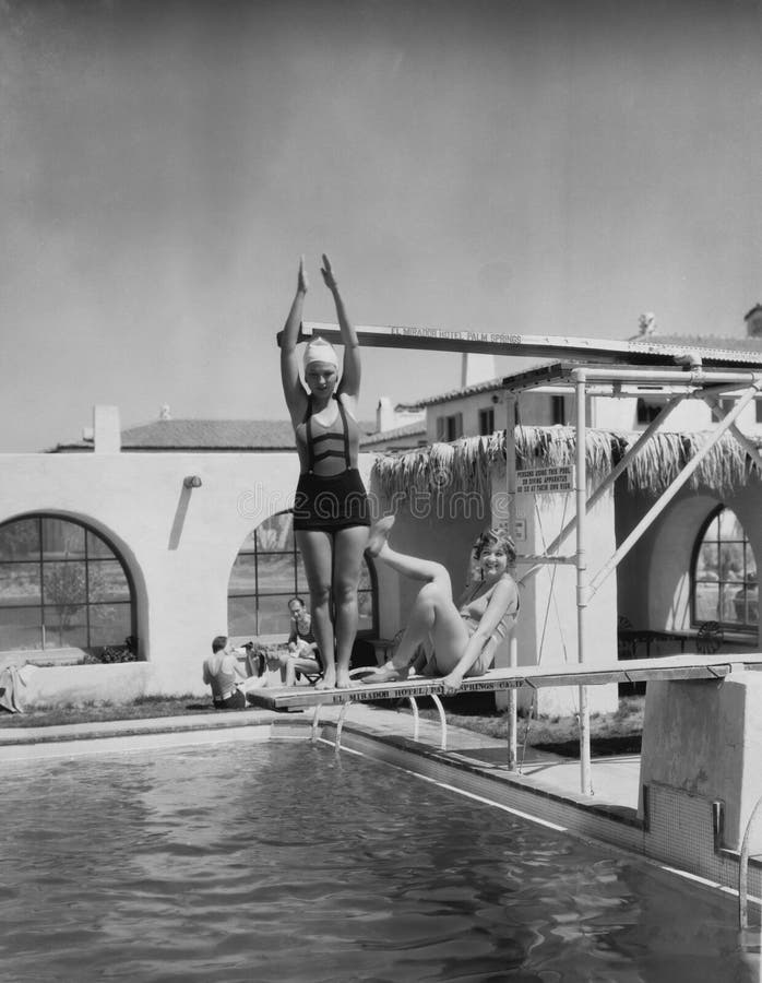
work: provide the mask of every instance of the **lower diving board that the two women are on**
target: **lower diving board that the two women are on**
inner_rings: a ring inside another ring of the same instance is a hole
[[[598,686],[606,683],[644,683],[668,679],[723,679],[729,673],[762,670],[762,653],[724,655],[667,655],[658,659],[633,659],[627,662],[582,665],[520,665],[490,670],[483,676],[463,680],[459,692],[496,692],[528,686]],[[313,689],[306,686],[278,689],[254,689],[249,702],[269,710],[303,710],[370,700],[410,699],[442,696],[441,678],[410,676],[404,683],[359,685],[352,689]]]

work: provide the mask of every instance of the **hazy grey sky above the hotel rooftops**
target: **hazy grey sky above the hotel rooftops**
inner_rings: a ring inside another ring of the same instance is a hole
[[[759,0],[0,0],[0,452],[285,418],[308,320],[743,334]],[[500,358],[498,371],[525,368]],[[360,416],[460,384],[372,348]]]

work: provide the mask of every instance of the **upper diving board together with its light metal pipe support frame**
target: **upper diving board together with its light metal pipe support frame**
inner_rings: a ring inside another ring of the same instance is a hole
[[[576,569],[576,630],[578,661],[587,663],[587,614],[592,597],[605,580],[627,556],[634,544],[653,524],[677,495],[680,488],[710,453],[713,447],[729,433],[739,441],[752,464],[762,473],[762,455],[757,445],[743,434],[737,424],[745,407],[762,393],[762,353],[729,351],[711,346],[660,345],[652,342],[611,341],[603,339],[561,337],[551,335],[490,334],[472,331],[444,331],[438,328],[368,328],[356,329],[361,345],[376,347],[421,348],[462,353],[488,353],[501,356],[532,358],[565,358],[551,365],[543,365],[527,372],[503,379],[507,395],[505,458],[508,492],[508,525],[516,538],[516,450],[515,406],[522,392],[534,390],[553,393],[573,393],[576,398],[575,428],[575,516],[564,525],[541,556],[520,556],[519,565],[531,566],[520,578],[526,581],[546,564],[570,562]],[[336,324],[305,322],[302,339],[320,334],[328,341],[341,344]],[[570,362],[569,359],[574,359]],[[636,395],[647,392],[666,399],[664,408],[640,435],[621,460],[588,496],[586,442],[588,422],[587,398],[591,395]],[[733,408],[725,413],[719,405],[733,400]],[[617,478],[630,466],[667,421],[675,407],[686,399],[706,402],[716,425],[709,431],[702,448],[688,461],[671,484],[657,497],[654,505],[615,549],[614,554],[594,573],[588,576],[587,514],[600,497],[614,487]],[[559,549],[575,533],[575,552],[562,555]],[[515,671],[517,651],[515,632],[509,639],[509,667]],[[580,673],[584,675],[584,673]],[[580,785],[584,795],[593,793],[590,755],[590,714],[587,687],[580,685]],[[509,742],[508,765],[516,768],[516,715],[515,688],[509,689]]]

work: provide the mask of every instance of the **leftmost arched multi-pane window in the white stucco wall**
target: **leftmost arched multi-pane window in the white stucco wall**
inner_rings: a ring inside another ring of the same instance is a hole
[[[0,525],[0,651],[99,649],[130,635],[132,584],[102,535],[57,516]]]

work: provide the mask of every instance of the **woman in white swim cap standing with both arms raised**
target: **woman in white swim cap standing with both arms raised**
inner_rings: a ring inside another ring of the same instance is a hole
[[[368,498],[357,470],[360,429],[360,353],[326,256],[320,271],[333,294],[344,345],[338,356],[329,342],[312,339],[305,351],[305,382],[296,346],[308,289],[303,257],[296,296],[281,342],[281,377],[301,465],[294,500],[294,534],[310,590],[312,630],[324,663],[315,688],[345,688],[357,635],[357,585],[368,543]],[[306,388],[305,388],[306,387]],[[335,659],[334,659],[335,652]]]

